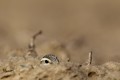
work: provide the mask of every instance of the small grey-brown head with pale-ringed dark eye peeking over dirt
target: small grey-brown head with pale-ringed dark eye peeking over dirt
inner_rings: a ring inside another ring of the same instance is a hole
[[[59,59],[56,55],[47,54],[42,57],[42,59],[40,60],[40,63],[43,65],[58,64]]]

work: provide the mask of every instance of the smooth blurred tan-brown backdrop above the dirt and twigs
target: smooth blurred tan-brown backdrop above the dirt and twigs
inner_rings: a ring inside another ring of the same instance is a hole
[[[120,61],[119,0],[0,0],[0,52],[25,48],[31,35],[67,45],[73,61]],[[1,55],[1,58],[6,56]]]

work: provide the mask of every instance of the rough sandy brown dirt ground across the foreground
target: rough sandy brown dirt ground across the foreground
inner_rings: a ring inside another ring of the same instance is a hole
[[[119,80],[120,63],[85,65],[60,61],[44,65],[37,56],[12,56],[1,61],[0,80]]]

